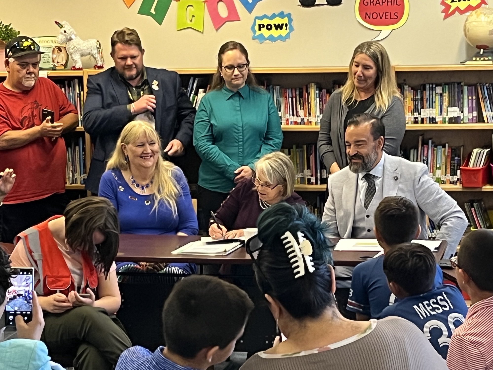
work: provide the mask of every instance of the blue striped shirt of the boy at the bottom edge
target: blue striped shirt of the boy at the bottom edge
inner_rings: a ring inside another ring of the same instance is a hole
[[[120,355],[115,370],[194,370],[168,360],[163,351],[164,347],[154,353],[140,346],[130,347]]]

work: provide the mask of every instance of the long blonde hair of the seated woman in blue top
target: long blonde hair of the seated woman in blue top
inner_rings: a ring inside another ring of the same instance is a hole
[[[122,144],[129,145],[136,143],[141,135],[144,135],[146,139],[154,140],[160,149],[161,139],[156,133],[156,130],[147,122],[144,121],[132,121],[127,124],[116,142],[116,147],[106,165],[106,171],[114,168],[119,168],[122,171],[130,171],[130,162],[126,162],[125,153],[122,149]],[[156,210],[160,200],[167,204],[173,211],[173,215],[176,216],[176,199],[181,191],[178,183],[173,177],[173,171],[176,170],[173,163],[163,159],[161,155],[158,155],[156,168],[154,169],[153,188],[154,188],[154,207],[152,210]]]

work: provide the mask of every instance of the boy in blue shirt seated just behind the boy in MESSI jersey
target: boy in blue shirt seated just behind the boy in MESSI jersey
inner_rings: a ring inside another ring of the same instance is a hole
[[[384,274],[385,254],[394,246],[409,243],[419,237],[421,227],[418,209],[407,198],[389,196],[375,210],[375,237],[384,255],[354,267],[347,309],[356,313],[356,320],[379,318],[380,313],[395,297],[390,293]],[[436,269],[435,285],[443,284],[442,269]]]

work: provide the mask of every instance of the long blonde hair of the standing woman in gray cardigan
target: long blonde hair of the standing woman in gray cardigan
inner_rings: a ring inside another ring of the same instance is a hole
[[[356,55],[365,54],[377,67],[377,78],[375,79],[375,105],[377,110],[387,111],[390,102],[394,96],[402,101],[402,95],[397,88],[395,74],[392,73],[390,58],[388,57],[385,47],[375,41],[366,41],[360,43],[352,53],[351,63],[349,64],[348,80],[341,88],[342,103],[349,106],[354,103],[356,87],[352,79],[352,64]]]

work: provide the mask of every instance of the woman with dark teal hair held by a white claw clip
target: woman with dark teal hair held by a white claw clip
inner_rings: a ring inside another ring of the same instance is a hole
[[[317,217],[298,204],[278,203],[260,215],[258,235],[247,241],[246,251],[287,339],[253,355],[241,369],[447,369],[408,321],[361,322],[341,315],[324,231]]]

